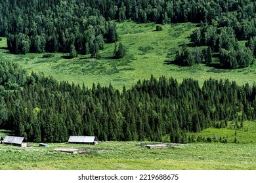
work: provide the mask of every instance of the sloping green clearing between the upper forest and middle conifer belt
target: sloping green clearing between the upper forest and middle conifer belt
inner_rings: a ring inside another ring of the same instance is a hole
[[[212,77],[236,80],[238,84],[256,80],[256,65],[246,69],[217,69],[203,64],[194,67],[179,67],[169,64],[175,57],[175,51],[184,42],[189,43],[189,36],[196,24],[163,25],[163,31],[154,31],[156,24],[136,24],[123,22],[117,24],[119,42],[127,48],[127,56],[113,59],[114,43],[105,44],[100,51],[100,59],[91,59],[89,55],[79,55],[74,59],[66,59],[68,54],[55,54],[54,58],[42,58],[43,54],[13,55],[6,50],[6,39],[0,42],[0,59],[20,63],[31,73],[43,72],[57,80],[68,80],[75,84],[91,87],[93,83],[108,86],[110,82],[117,88],[127,88],[137,83],[137,80],[149,79],[150,75],[174,77],[179,82],[183,78],[194,78],[203,84]],[[216,59],[215,59],[216,60]],[[214,66],[214,64],[213,64]]]

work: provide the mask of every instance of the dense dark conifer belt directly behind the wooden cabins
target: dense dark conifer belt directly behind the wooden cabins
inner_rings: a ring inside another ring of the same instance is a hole
[[[229,80],[139,80],[123,91],[91,88],[28,75],[0,62],[0,127],[32,142],[65,142],[69,135],[96,135],[101,141],[202,141],[186,132],[255,120],[256,85]]]

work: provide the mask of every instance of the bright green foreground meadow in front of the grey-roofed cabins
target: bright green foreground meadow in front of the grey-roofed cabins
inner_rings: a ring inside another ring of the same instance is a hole
[[[234,129],[205,129],[202,137],[227,137],[229,143],[171,144],[173,148],[148,149],[141,142],[87,144],[49,143],[49,148],[28,143],[28,148],[0,144],[0,169],[256,169],[256,122],[244,122],[232,143]],[[1,135],[10,131],[0,130]],[[170,144],[170,143],[169,143]],[[53,152],[54,148],[86,149],[89,154]]]

